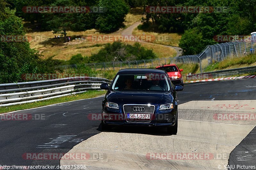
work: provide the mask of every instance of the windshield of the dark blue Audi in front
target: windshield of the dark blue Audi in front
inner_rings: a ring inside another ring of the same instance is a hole
[[[165,74],[119,74],[112,85],[117,91],[169,91]]]

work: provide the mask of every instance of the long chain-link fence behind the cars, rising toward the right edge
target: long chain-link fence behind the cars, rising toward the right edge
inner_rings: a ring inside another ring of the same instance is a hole
[[[255,41],[234,41],[206,46],[204,50],[197,55],[184,55],[174,58],[168,57],[149,60],[85,63],[84,65],[89,66],[94,70],[119,70],[122,68],[155,68],[157,66],[166,64],[199,63],[200,72],[202,73],[210,64],[220,62],[227,58],[243,57],[250,53],[255,53],[255,47]],[[67,69],[68,67],[77,68],[76,64],[60,67],[64,69]]]

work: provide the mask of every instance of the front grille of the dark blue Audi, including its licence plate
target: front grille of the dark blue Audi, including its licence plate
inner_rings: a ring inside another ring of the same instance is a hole
[[[148,123],[151,122],[155,106],[154,105],[147,105],[147,104],[124,104],[123,105],[124,109],[124,114],[127,122],[132,122],[132,123]],[[138,114],[150,114],[150,119],[132,119],[132,118],[127,118],[128,113],[138,113]]]

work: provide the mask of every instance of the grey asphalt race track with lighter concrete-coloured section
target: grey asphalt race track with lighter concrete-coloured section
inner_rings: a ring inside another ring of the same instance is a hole
[[[62,165],[80,163],[88,169],[90,166],[91,169],[224,169],[228,163],[236,167],[255,166],[256,120],[216,118],[218,114],[255,114],[255,92],[255,79],[185,85],[178,93],[180,120],[177,135],[168,135],[164,128],[147,127],[113,128],[101,132],[100,120],[92,121],[87,116],[100,113],[103,97],[18,111],[15,113],[32,114],[33,117],[44,114],[45,119],[1,120],[0,164],[57,166],[59,159],[30,160],[24,154],[69,151],[105,155],[105,159],[85,162],[61,160]],[[152,152],[210,153],[213,158],[151,160],[145,155]]]

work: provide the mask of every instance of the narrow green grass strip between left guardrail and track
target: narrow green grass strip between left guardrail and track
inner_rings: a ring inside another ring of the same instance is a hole
[[[31,108],[36,108],[36,107],[41,107],[41,106],[47,106],[51,104],[56,104],[56,103],[63,103],[63,102],[70,102],[74,100],[80,100],[80,99],[88,99],[92,97],[97,97],[97,96],[103,96],[106,94],[106,90],[88,90],[87,92],[76,94],[76,95],[70,95],[70,96],[64,96],[64,97],[59,97],[59,98],[54,98],[54,99],[49,99],[49,100],[43,100],[39,102],[32,102],[32,103],[24,103],[24,104],[17,104],[17,105],[12,105],[12,106],[4,106],[0,107],[0,113],[7,113],[11,111],[17,111],[17,110],[24,110],[24,109],[31,109]]]

